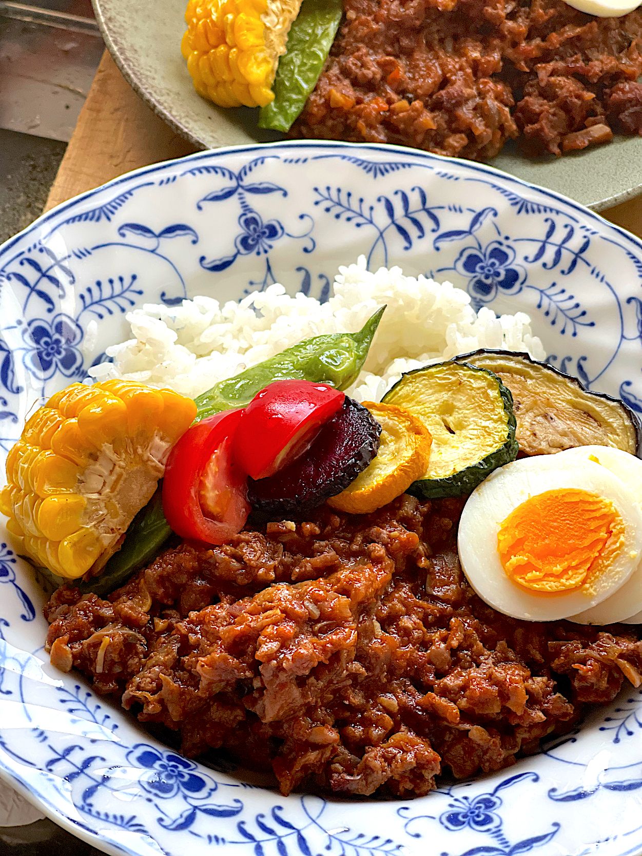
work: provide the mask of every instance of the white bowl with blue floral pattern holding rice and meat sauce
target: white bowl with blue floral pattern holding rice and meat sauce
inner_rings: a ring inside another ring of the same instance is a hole
[[[642,413],[640,241],[479,164],[293,142],[140,169],[0,248],[2,458],[35,401],[127,336],[131,307],[238,299],[275,281],[324,299],[337,265],[359,253],[371,268],[449,279],[478,307],[528,312],[554,366]],[[283,798],[169,752],[52,669],[44,597],[10,536],[0,538],[0,773],[107,853],[642,851],[642,690],[627,686],[510,770],[420,800]]]

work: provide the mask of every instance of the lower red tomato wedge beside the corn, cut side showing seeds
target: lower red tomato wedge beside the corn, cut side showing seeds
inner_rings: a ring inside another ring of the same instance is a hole
[[[192,425],[169,452],[163,512],[180,535],[225,544],[245,526],[247,473],[235,462],[232,441],[241,410],[227,410]]]

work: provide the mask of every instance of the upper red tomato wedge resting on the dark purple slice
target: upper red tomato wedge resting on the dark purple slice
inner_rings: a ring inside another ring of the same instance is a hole
[[[327,383],[270,383],[241,415],[234,438],[236,461],[253,479],[274,475],[310,448],[345,397]]]

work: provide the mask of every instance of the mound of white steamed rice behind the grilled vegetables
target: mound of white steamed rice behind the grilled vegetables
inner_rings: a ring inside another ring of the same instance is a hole
[[[221,306],[211,297],[129,312],[132,339],[107,348],[113,363],[93,366],[94,380],[122,377],[170,387],[195,398],[226,377],[325,333],[360,330],[386,304],[364,370],[347,390],[357,401],[380,401],[402,372],[477,348],[527,351],[544,360],[523,312],[474,312],[470,297],[450,282],[404,276],[401,268],[366,270],[366,258],[340,267],[326,303],[285,293],[282,285]]]

